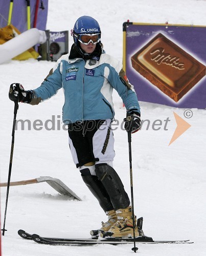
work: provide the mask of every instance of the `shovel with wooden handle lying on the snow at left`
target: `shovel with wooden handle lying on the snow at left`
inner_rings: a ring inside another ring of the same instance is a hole
[[[73,197],[78,201],[82,201],[70,188],[68,188],[61,180],[52,178],[50,176],[40,176],[39,178],[33,180],[21,180],[21,181],[14,181],[10,182],[10,186],[19,186],[19,185],[28,185],[33,183],[40,183],[40,182],[47,182],[51,187],[58,191],[58,193]],[[6,187],[7,183],[0,183],[0,187]]]

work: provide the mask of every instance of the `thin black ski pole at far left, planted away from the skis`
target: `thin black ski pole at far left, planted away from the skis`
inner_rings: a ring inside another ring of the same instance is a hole
[[[4,227],[2,229],[2,234],[4,236],[5,231],[5,224],[6,224],[6,215],[7,215],[7,204],[8,204],[8,197],[9,197],[9,187],[10,187],[10,179],[11,179],[11,168],[12,168],[12,160],[13,160],[13,152],[14,152],[14,134],[15,134],[15,125],[16,125],[16,114],[18,110],[18,101],[14,101],[14,119],[13,119],[13,128],[12,128],[12,141],[11,141],[11,153],[10,153],[10,162],[9,162],[9,174],[8,174],[8,183],[7,183],[7,196],[6,196],[6,205],[5,205],[5,214],[4,214]]]

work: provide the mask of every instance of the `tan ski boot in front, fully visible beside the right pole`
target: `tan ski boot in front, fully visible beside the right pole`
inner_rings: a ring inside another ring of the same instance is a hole
[[[116,210],[118,221],[113,224],[108,231],[99,233],[102,238],[133,238],[133,220],[132,220],[132,209],[131,206],[125,209]],[[143,231],[139,232],[138,225],[136,224],[136,216],[134,217],[135,237],[144,236]]]

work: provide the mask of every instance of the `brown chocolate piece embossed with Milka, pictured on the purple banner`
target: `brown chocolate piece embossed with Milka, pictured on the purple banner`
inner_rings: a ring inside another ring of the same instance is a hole
[[[162,33],[136,52],[131,63],[136,71],[175,102],[205,76],[205,66]]]

